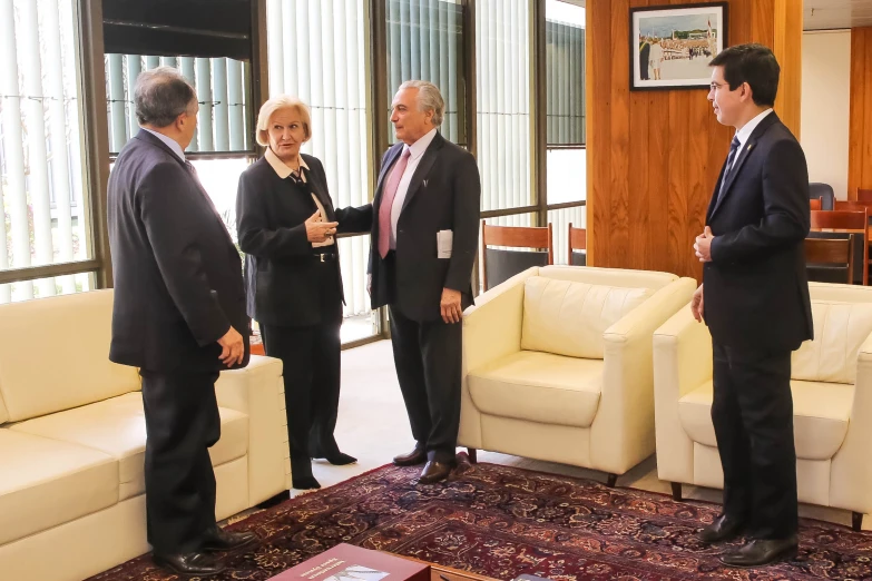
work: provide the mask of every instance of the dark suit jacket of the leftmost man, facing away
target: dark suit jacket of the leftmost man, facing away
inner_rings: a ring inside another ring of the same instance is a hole
[[[109,358],[155,372],[214,372],[217,341],[245,339],[242,263],[199,180],[145,129],[109,176],[109,245],[115,275]]]

